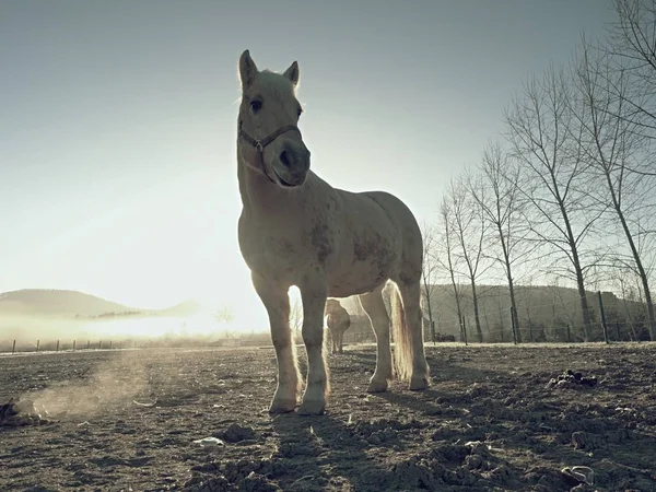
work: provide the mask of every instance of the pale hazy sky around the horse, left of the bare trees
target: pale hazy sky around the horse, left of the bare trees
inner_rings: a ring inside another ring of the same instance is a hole
[[[237,245],[237,60],[298,61],[312,168],[433,222],[523,80],[610,0],[0,2],[0,292],[189,297],[267,326]]]

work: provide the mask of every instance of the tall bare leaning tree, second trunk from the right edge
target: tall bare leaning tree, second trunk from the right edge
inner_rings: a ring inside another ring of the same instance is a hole
[[[527,202],[526,220],[534,239],[558,256],[549,266],[559,268],[569,260],[564,273],[573,279],[581,297],[584,339],[591,336],[589,305],[585,291],[582,243],[598,214],[590,213],[587,196],[578,185],[585,169],[582,139],[572,130],[571,87],[562,70],[553,66],[540,81],[529,80],[524,94],[505,114],[514,156],[523,165],[519,190]]]

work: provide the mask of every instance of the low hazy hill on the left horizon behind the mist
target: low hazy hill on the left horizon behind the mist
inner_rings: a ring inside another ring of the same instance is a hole
[[[78,291],[25,289],[0,294],[0,316],[108,318],[114,316],[189,316],[198,309],[184,302],[166,309],[140,309]]]

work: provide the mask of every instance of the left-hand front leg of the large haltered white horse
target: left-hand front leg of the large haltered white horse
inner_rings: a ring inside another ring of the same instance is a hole
[[[294,411],[303,379],[296,362],[296,349],[290,329],[289,289],[253,274],[253,284],[261,298],[271,326],[271,341],[278,360],[278,387],[269,407],[271,413]]]

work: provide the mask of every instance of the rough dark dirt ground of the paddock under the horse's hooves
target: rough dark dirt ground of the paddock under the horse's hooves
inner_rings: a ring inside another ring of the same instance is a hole
[[[330,355],[321,417],[268,414],[269,348],[0,356],[0,403],[54,417],[0,426],[0,490],[656,490],[656,344],[426,353],[431,389],[379,395],[373,347]]]

